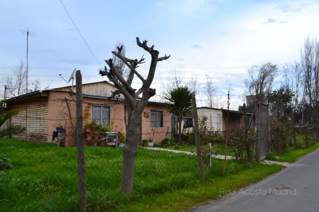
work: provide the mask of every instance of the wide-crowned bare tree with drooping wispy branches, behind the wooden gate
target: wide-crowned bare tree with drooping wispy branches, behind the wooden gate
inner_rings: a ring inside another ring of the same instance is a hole
[[[248,69],[248,74],[249,79],[244,80],[246,95],[251,95],[255,102],[265,102],[278,76],[277,65],[271,62],[253,65]]]

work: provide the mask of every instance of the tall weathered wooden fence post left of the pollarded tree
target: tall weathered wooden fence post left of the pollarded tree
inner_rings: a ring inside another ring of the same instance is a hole
[[[76,132],[77,132],[77,150],[78,150],[78,192],[79,192],[79,211],[86,211],[86,186],[85,186],[85,158],[83,142],[83,97],[82,97],[82,75],[78,70],[76,77]]]

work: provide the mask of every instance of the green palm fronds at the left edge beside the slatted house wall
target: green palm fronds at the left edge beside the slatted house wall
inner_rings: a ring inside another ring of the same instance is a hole
[[[18,115],[18,110],[11,110],[7,113],[4,113],[4,100],[0,100],[0,127],[4,124],[4,122],[8,119],[10,119],[12,116]],[[12,133],[23,133],[26,131],[26,127],[22,125],[12,125],[9,127],[6,127],[4,129],[0,129],[0,138],[12,134]]]

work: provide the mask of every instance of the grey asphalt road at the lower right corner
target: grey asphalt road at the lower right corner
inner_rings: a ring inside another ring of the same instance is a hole
[[[319,211],[319,149],[259,183],[193,211]]]

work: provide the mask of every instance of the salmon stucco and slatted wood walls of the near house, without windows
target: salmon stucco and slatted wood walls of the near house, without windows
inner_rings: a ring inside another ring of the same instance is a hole
[[[37,142],[52,142],[53,134],[56,127],[63,126],[65,130],[65,140],[68,146],[73,146],[75,127],[76,127],[76,94],[70,94],[63,91],[48,90],[39,94],[36,97],[28,99],[27,110],[27,138],[25,134],[12,135],[12,138],[27,139]],[[111,107],[111,121],[114,121],[114,131],[121,131],[126,134],[124,122],[124,104],[119,104],[119,100],[106,98],[83,98],[83,125],[86,121],[92,120],[91,105],[105,105]],[[90,105],[89,107],[87,107]],[[12,124],[26,125],[26,103],[24,99],[17,99],[15,103],[12,101],[8,106],[12,109],[20,110],[20,114],[11,119]],[[88,109],[89,115],[85,110]],[[164,111],[164,127],[151,128],[151,110]],[[171,133],[171,115],[167,113],[165,106],[160,104],[148,103],[144,112],[149,117],[142,113],[141,133],[142,139],[152,138],[154,142],[160,142],[165,137],[169,137]]]

